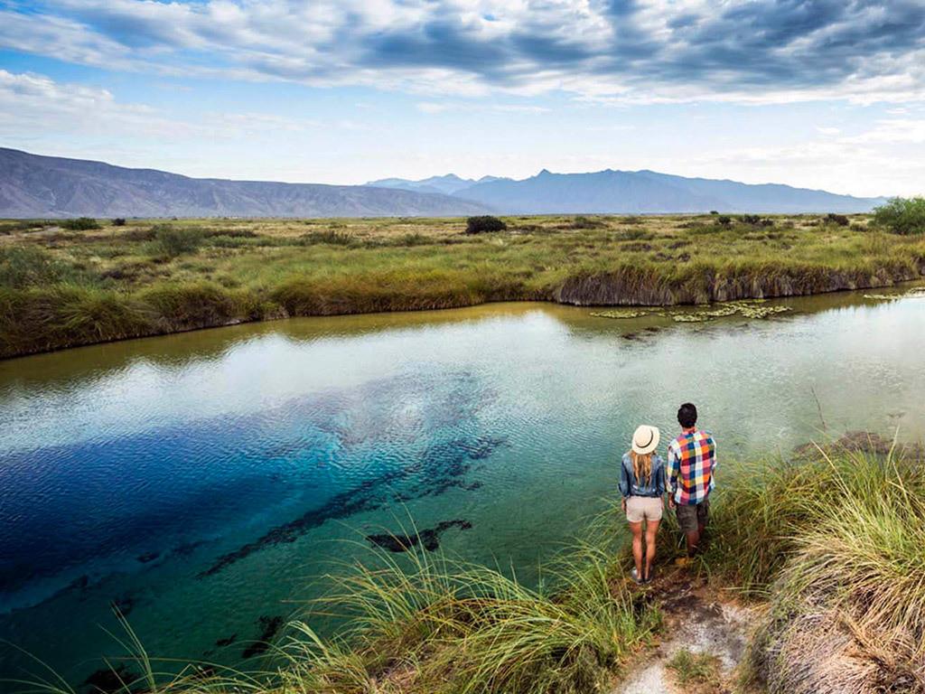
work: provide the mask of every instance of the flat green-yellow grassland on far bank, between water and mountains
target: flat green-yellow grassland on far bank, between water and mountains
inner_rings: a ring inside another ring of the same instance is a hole
[[[925,238],[866,216],[505,221],[478,235],[462,219],[0,222],[0,357],[285,316],[704,304],[925,272]]]

